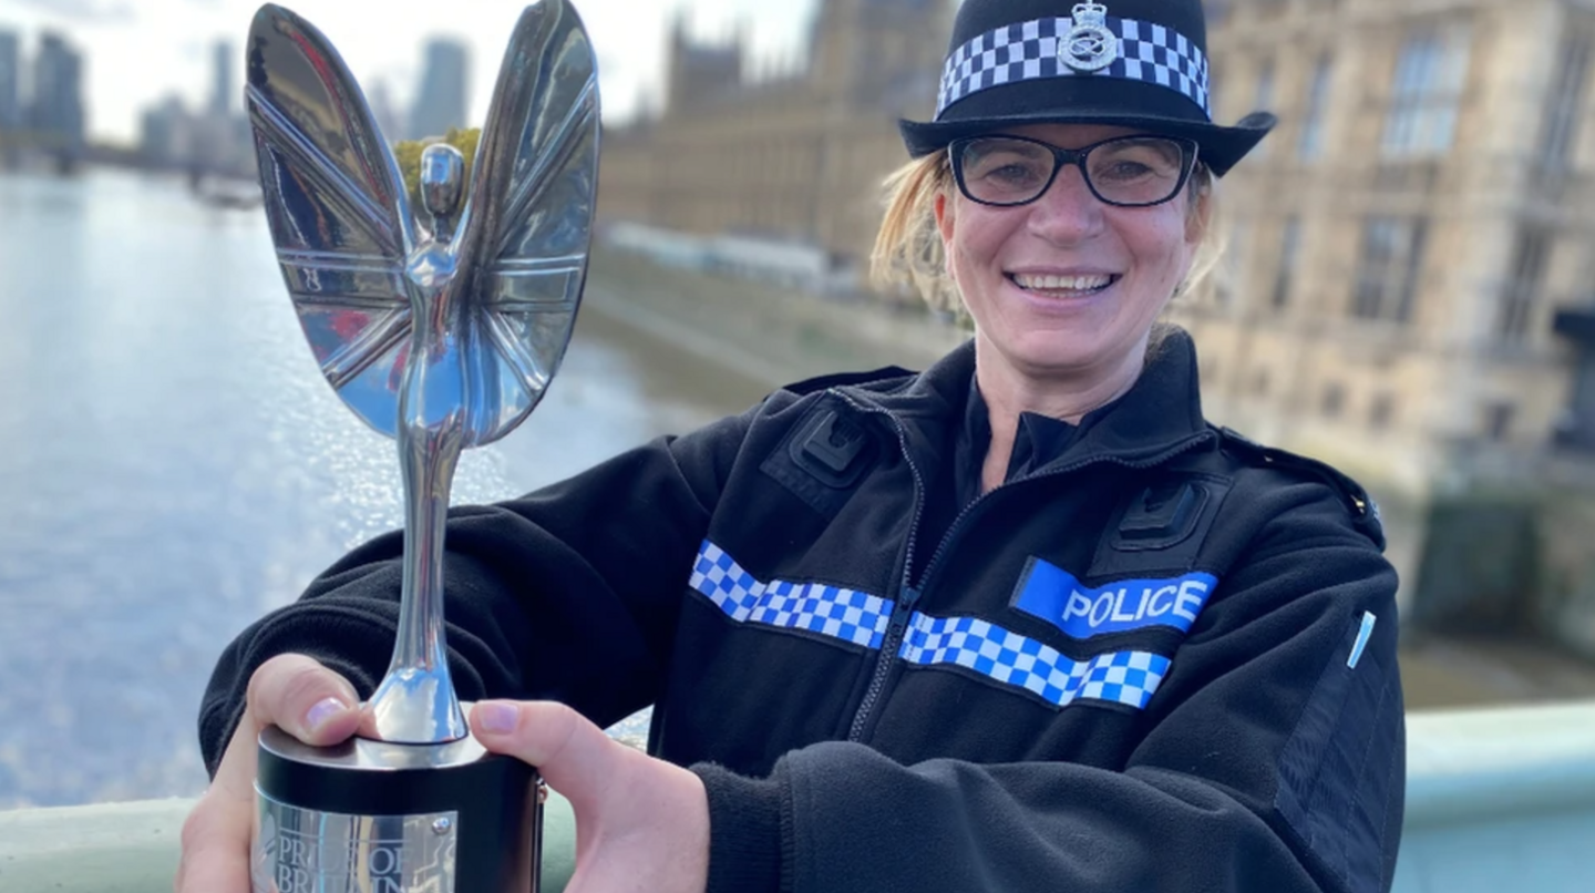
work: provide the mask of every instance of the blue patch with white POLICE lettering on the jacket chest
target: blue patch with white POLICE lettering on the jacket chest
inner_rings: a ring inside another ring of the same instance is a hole
[[[1193,572],[1164,580],[1116,580],[1091,588],[1069,571],[1030,558],[1013,606],[1073,639],[1147,627],[1188,633],[1217,585],[1219,577]]]

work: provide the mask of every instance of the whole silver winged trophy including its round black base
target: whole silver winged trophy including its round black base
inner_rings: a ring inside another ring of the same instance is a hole
[[[399,442],[404,584],[375,734],[309,748],[260,737],[257,893],[538,888],[541,781],[466,727],[443,643],[443,521],[459,451],[538,405],[569,343],[598,171],[592,43],[566,0],[509,41],[474,172],[421,155],[412,212],[354,78],[309,22],[262,6],[246,97],[266,217],[332,387]]]

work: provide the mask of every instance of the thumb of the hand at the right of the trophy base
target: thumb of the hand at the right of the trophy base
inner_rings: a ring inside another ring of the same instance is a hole
[[[538,767],[577,813],[605,794],[625,749],[582,714],[553,702],[488,700],[471,711],[485,748]]]

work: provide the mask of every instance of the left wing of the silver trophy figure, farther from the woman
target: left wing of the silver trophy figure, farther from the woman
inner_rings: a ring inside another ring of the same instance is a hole
[[[338,395],[392,437],[415,244],[397,163],[332,43],[287,10],[255,14],[246,97],[271,239],[305,336]]]

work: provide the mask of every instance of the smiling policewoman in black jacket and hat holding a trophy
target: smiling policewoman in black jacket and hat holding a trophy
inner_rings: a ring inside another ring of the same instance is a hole
[[[455,512],[453,678],[569,797],[569,890],[1389,887],[1376,517],[1209,426],[1155,324],[1273,123],[1211,121],[1204,48],[1198,0],[965,0],[877,262],[928,239],[973,340]],[[222,657],[180,891],[246,888],[265,724],[356,732],[399,555],[357,549]],[[649,754],[600,732],[648,703]]]

